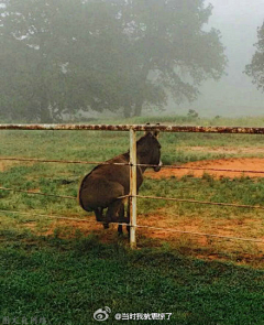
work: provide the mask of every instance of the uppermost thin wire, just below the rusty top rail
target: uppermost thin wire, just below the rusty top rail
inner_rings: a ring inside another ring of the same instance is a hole
[[[97,161],[74,161],[74,160],[46,160],[46,159],[34,159],[34,158],[0,158],[0,161],[21,161],[21,162],[36,162],[36,163],[62,163],[62,164],[90,164],[90,165],[131,165],[131,163],[113,163],[113,162],[97,162]],[[136,166],[142,167],[156,167],[153,164],[136,164]],[[212,167],[193,167],[193,166],[182,166],[182,165],[160,165],[162,169],[170,170],[190,170],[190,171],[211,171],[211,172],[231,172],[231,173],[253,173],[253,174],[264,174],[264,171],[253,171],[253,170],[231,170],[231,169],[212,169]]]

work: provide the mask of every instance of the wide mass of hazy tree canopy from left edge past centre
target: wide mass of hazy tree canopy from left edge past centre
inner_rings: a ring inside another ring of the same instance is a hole
[[[226,66],[204,0],[2,0],[0,113],[57,121],[194,100]],[[2,51],[3,48],[3,51]]]

